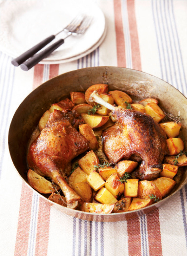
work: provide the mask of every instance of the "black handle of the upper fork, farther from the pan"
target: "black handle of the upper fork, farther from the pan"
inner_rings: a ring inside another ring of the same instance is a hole
[[[11,61],[12,65],[18,67],[20,64],[22,64],[28,58],[30,58],[35,53],[40,51],[42,48],[44,48],[44,46],[46,46],[48,43],[50,43],[54,39],[55,39],[55,35],[51,35],[51,36],[47,37],[46,39],[44,39],[40,43],[36,44],[35,46],[33,46],[32,48],[27,50],[25,53],[22,53],[20,56],[18,56],[17,58],[13,59]]]

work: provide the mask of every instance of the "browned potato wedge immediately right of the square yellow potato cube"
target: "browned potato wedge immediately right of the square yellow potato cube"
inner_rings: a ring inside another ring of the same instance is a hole
[[[156,196],[156,200],[161,200],[162,195],[160,190],[153,184],[151,181],[148,180],[141,180],[138,182],[138,198],[148,198],[150,196]],[[151,199],[152,203],[154,203],[155,199]]]

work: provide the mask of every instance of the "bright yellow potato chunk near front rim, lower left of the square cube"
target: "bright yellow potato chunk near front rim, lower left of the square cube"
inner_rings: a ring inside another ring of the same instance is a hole
[[[117,199],[111,194],[107,188],[100,188],[95,195],[95,200],[100,203],[113,204],[117,203]]]

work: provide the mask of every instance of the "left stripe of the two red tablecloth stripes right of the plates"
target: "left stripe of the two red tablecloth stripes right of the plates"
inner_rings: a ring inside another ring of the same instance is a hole
[[[125,38],[123,34],[121,1],[113,1],[116,30],[117,66],[126,67]]]

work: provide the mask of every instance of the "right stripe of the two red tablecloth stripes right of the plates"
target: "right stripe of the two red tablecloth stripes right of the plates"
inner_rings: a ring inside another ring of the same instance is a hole
[[[134,1],[127,1],[128,21],[131,38],[132,68],[141,70],[141,56],[137,31]]]

